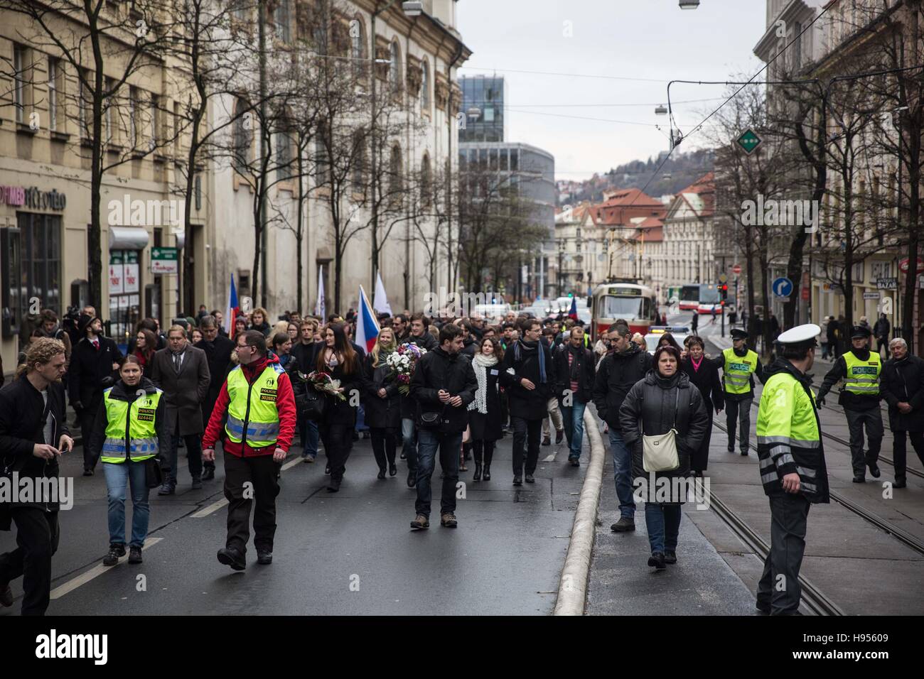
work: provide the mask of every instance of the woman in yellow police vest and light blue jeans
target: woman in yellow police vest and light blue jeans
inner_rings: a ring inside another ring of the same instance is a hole
[[[94,420],[90,450],[103,462],[109,496],[109,553],[103,564],[116,565],[125,556],[125,495],[131,486],[131,540],[128,563],[141,563],[148,537],[147,460],[163,457],[170,435],[164,416],[163,392],[141,376],[138,357],[129,354],[119,368],[119,380],[103,392]]]

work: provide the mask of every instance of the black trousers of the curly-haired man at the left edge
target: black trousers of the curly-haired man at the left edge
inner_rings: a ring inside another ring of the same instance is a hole
[[[44,615],[52,591],[52,555],[61,538],[58,513],[31,507],[17,507],[11,513],[17,548],[0,554],[0,588],[23,576],[22,614]]]

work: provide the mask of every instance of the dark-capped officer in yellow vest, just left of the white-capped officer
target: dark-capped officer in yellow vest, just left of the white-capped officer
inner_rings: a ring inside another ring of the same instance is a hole
[[[748,333],[734,328],[732,346],[712,359],[716,368],[723,371],[722,385],[725,396],[725,424],[728,427],[728,452],[735,452],[735,428],[738,425],[738,442],[741,455],[748,455],[750,443],[750,406],[754,403],[754,376],[762,383],[763,366],[757,352],[748,348]]]

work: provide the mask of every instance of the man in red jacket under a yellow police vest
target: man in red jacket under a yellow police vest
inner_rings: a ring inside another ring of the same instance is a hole
[[[240,365],[228,373],[202,437],[202,457],[215,459],[215,442],[225,451],[225,497],[228,500],[228,534],[218,561],[236,571],[247,567],[245,553],[250,537],[257,563],[273,563],[276,532],[276,474],[286,459],[295,433],[296,406],[286,370],[278,358],[267,358],[266,338],[259,331],[237,337]]]

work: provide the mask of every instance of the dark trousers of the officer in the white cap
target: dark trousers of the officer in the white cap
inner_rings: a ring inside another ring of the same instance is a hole
[[[801,493],[770,497],[771,547],[757,586],[757,602],[761,608],[769,606],[771,615],[798,611],[802,596],[799,568],[806,549],[809,506]]]

